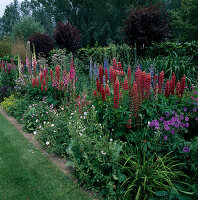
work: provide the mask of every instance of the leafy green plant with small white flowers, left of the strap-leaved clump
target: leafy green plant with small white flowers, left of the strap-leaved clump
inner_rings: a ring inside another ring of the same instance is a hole
[[[71,141],[67,153],[79,181],[101,191],[102,195],[115,198],[120,192],[119,183],[125,178],[118,165],[123,142],[113,140],[108,133],[103,134],[93,108],[83,115],[71,113],[70,118]]]

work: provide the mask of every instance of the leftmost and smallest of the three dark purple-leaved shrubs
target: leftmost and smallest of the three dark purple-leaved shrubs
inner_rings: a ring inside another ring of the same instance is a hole
[[[29,41],[31,46],[34,45],[37,55],[43,53],[45,56],[48,56],[54,47],[53,40],[47,33],[34,33],[30,36]]]

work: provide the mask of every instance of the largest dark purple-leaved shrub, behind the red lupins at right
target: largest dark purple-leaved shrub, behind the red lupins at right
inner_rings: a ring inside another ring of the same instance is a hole
[[[168,14],[159,4],[131,10],[124,25],[125,40],[138,51],[169,36]]]

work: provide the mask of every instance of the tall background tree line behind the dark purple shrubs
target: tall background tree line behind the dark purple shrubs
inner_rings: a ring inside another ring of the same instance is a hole
[[[169,10],[172,25],[171,39],[183,41],[197,40],[197,0],[14,0],[0,18],[0,36],[17,35],[17,26],[21,31],[33,26],[33,30],[50,35],[58,22],[70,22],[81,35],[81,46],[101,46],[109,43],[124,42],[123,21],[137,6],[147,6],[161,2]],[[23,28],[24,27],[24,28]],[[178,37],[179,36],[179,37]]]

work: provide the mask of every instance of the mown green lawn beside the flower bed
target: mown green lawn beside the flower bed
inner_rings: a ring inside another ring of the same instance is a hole
[[[0,200],[88,200],[0,114]]]

